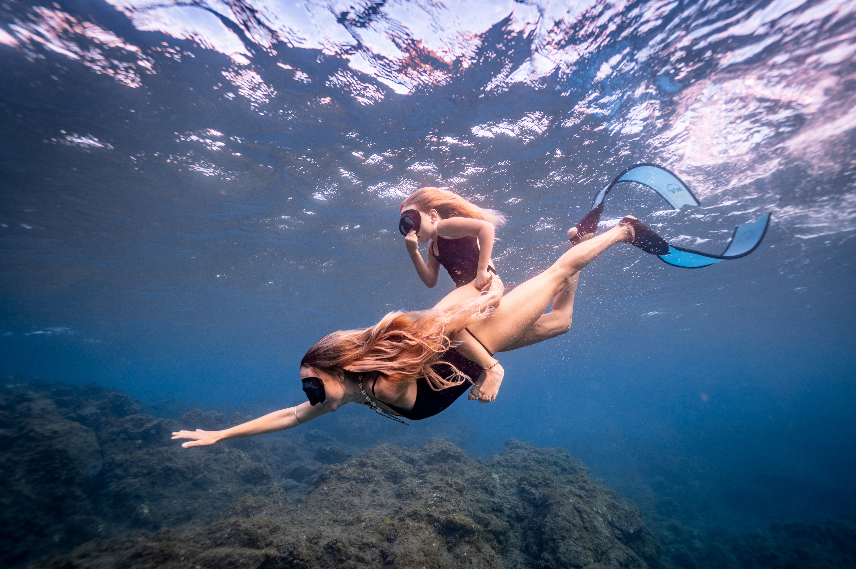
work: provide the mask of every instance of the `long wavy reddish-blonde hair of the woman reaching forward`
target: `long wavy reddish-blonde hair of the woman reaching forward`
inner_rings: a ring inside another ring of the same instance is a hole
[[[457,344],[455,338],[467,326],[484,319],[493,308],[479,305],[479,296],[449,308],[390,312],[364,330],[340,330],[324,336],[306,352],[300,366],[312,366],[335,374],[338,369],[354,373],[377,371],[396,384],[420,377],[439,391],[461,385],[470,378],[451,363],[449,379],[431,368],[437,357]],[[445,363],[445,362],[443,362]]]

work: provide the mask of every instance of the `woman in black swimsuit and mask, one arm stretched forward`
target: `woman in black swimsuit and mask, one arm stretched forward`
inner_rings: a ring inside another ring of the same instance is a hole
[[[185,448],[213,445],[294,428],[348,403],[369,405],[399,421],[395,416],[419,420],[436,415],[466,391],[466,376],[478,377],[482,371],[455,350],[466,328],[491,352],[532,344],[527,342],[532,326],[553,298],[598,255],[624,242],[653,255],[668,249],[656,233],[627,216],[602,235],[577,244],[507,295],[494,275],[485,290],[465,302],[449,305],[443,299],[430,310],[390,313],[365,330],[322,338],[300,362],[307,402],[222,431],[182,430],[172,438],[187,439],[181,444]]]

